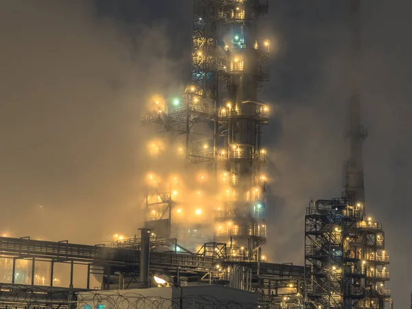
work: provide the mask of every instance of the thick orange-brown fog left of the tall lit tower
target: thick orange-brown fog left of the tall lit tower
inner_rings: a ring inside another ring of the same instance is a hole
[[[1,233],[91,244],[133,235],[141,107],[177,86],[164,27],[136,27],[134,44],[89,1],[7,1],[0,11]]]

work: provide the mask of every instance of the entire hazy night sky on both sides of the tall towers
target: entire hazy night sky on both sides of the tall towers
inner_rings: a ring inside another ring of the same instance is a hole
[[[1,233],[98,242],[141,216],[140,109],[190,74],[192,1],[1,1]],[[412,254],[412,3],[362,1],[367,211],[385,226],[396,308]],[[271,0],[268,244],[303,263],[304,208],[341,194],[350,95],[347,1]]]

